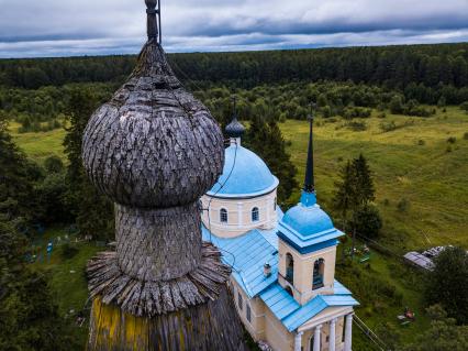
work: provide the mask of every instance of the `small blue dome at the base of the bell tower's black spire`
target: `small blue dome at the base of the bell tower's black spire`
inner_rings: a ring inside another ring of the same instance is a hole
[[[307,207],[299,204],[285,213],[282,222],[303,237],[334,229],[331,218],[319,205]]]

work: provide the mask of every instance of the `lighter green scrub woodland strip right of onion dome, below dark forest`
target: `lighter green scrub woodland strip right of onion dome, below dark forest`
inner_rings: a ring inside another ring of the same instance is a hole
[[[430,117],[435,112],[434,107],[421,105],[412,94],[406,98],[399,90],[352,81],[290,83],[263,85],[253,89],[230,89],[223,86],[196,91],[223,124],[229,122],[226,117],[230,116],[233,94],[237,96],[238,114],[245,120],[254,120],[256,117],[280,122],[287,119],[307,119],[311,101],[316,102],[317,112],[324,118],[368,118],[371,109],[377,109],[381,117],[387,111],[417,117]],[[468,101],[468,89],[458,89],[457,94],[460,100]],[[439,108],[453,103],[447,102],[444,96],[436,101]]]

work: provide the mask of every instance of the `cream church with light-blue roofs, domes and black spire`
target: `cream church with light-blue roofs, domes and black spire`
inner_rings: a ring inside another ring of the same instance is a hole
[[[286,213],[277,206],[278,179],[241,144],[234,118],[226,132],[223,175],[202,197],[203,239],[232,266],[237,311],[252,337],[274,350],[350,351],[353,307],[358,303],[335,279],[337,238],[316,204],[312,121],[305,184]]]

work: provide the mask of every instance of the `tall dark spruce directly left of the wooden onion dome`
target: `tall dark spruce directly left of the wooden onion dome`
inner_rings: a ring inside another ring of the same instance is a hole
[[[104,196],[98,194],[85,174],[81,161],[82,133],[88,119],[100,101],[89,89],[75,89],[70,94],[67,129],[64,145],[68,157],[67,182],[68,201],[75,209],[77,226],[81,233],[99,239],[110,239],[113,234],[113,207]]]

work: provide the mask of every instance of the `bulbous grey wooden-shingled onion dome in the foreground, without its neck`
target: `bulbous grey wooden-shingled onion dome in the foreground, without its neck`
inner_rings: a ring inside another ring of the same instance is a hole
[[[91,182],[115,202],[168,208],[213,186],[223,166],[223,136],[151,37],[129,80],[91,117],[82,156]]]

